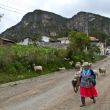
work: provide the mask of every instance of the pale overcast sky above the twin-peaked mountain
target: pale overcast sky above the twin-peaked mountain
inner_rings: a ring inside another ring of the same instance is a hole
[[[50,11],[71,18],[80,11],[110,18],[110,0],[0,0],[0,33],[20,22],[22,17],[36,9]]]

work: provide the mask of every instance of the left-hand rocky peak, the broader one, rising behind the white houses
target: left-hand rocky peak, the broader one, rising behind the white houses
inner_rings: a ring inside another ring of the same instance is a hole
[[[35,10],[27,13],[15,26],[7,29],[2,36],[14,41],[20,41],[33,36],[57,36],[67,29],[67,19],[54,13]]]

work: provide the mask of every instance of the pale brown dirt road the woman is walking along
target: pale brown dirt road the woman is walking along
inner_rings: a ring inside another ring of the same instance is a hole
[[[96,69],[101,66],[107,74],[97,79],[96,104],[86,98],[86,106],[79,107],[79,93],[74,93],[71,85],[75,70],[68,70],[0,85],[0,110],[110,110],[110,57],[94,64]]]

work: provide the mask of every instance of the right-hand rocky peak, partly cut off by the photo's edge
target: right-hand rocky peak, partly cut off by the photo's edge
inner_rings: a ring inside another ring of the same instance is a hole
[[[70,19],[67,26],[69,29],[75,29],[85,32],[90,36],[96,36],[101,41],[110,37],[110,18],[100,15],[79,12]]]

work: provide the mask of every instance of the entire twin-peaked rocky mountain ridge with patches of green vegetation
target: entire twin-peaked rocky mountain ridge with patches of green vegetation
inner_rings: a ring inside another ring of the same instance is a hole
[[[19,42],[33,36],[66,37],[71,30],[86,32],[103,41],[110,34],[110,19],[86,12],[64,18],[51,12],[35,10],[27,13],[17,25],[7,29],[1,36]]]

